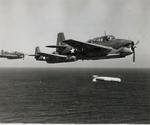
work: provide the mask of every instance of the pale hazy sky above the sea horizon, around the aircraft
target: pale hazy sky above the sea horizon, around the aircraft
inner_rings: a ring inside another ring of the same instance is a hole
[[[123,59],[47,64],[0,59],[0,67],[150,67],[150,0],[0,0],[0,50],[32,54],[54,50],[58,32],[66,38],[85,42],[107,34],[140,41],[136,63]]]

